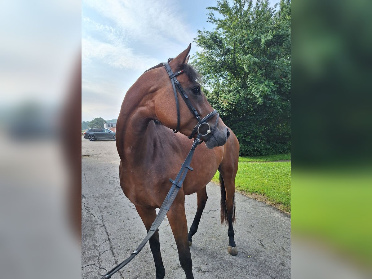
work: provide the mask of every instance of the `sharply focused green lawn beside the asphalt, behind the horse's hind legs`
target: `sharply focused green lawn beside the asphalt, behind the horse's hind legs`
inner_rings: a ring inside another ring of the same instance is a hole
[[[291,212],[291,154],[239,157],[236,190],[261,196],[264,201]],[[212,179],[218,183],[218,171]]]

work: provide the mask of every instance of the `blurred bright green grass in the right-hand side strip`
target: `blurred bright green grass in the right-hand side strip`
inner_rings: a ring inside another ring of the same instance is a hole
[[[370,166],[294,169],[292,233],[372,262]]]

